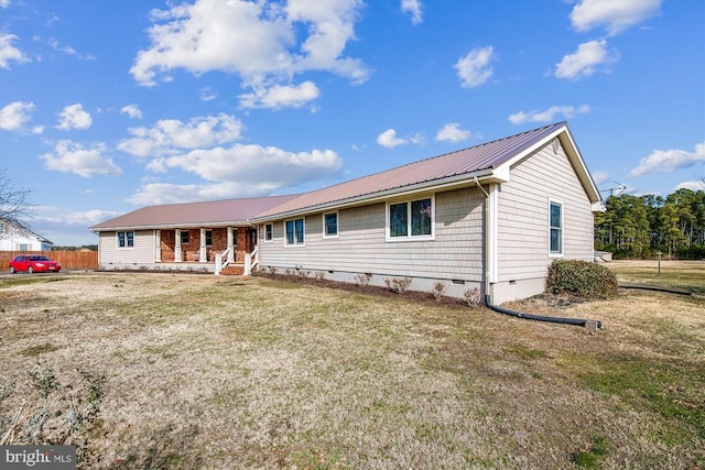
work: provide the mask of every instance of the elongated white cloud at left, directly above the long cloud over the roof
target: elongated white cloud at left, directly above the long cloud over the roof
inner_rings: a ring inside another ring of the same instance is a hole
[[[137,156],[160,156],[182,150],[209,147],[240,139],[242,123],[232,116],[218,114],[192,118],[184,123],[164,119],[151,129],[130,128],[133,135],[118,144],[118,149]]]

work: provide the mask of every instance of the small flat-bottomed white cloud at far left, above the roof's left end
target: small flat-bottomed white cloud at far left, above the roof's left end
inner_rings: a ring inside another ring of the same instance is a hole
[[[54,153],[40,155],[44,160],[46,170],[57,170],[64,173],[75,173],[84,178],[95,175],[121,175],[122,170],[112,163],[112,159],[102,156],[105,144],[95,144],[84,149],[82,144],[69,140],[56,143]]]

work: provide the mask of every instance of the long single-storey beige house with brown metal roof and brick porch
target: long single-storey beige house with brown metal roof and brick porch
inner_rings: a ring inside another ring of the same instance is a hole
[[[543,292],[554,259],[593,260],[603,200],[567,123],[311,193],[145,207],[99,223],[102,269],[322,272],[412,289]]]

